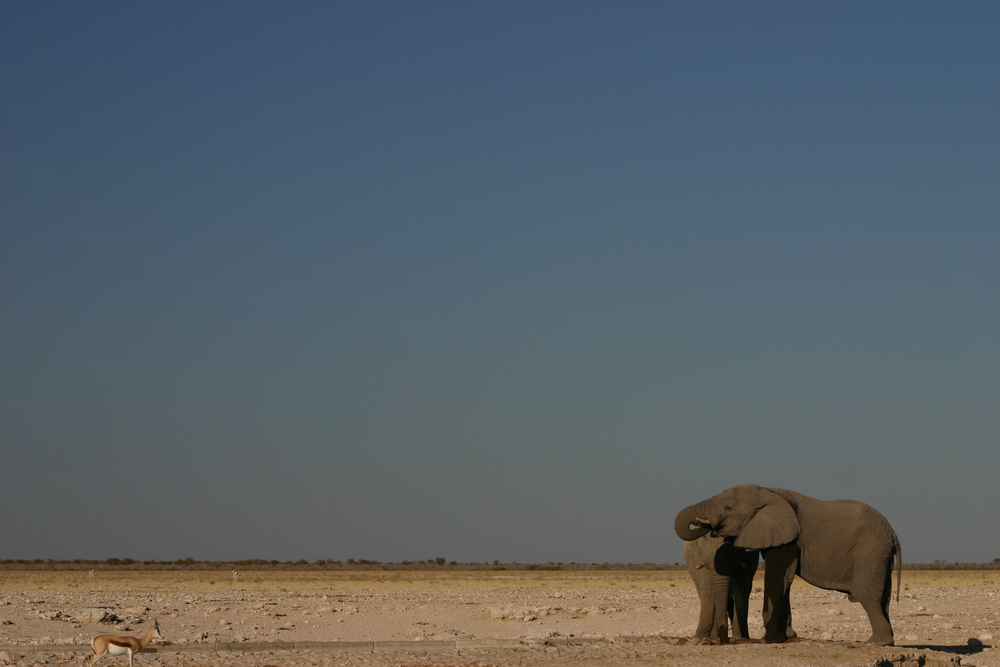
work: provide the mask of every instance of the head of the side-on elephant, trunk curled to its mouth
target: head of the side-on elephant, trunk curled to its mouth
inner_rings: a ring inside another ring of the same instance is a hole
[[[791,504],[755,484],[734,486],[685,507],[677,514],[674,530],[682,540],[696,540],[709,532],[730,537],[735,546],[744,549],[787,544],[801,532]]]

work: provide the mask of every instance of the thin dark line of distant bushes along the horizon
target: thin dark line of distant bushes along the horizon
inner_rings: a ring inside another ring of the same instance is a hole
[[[763,565],[761,566],[763,567]],[[513,571],[649,571],[683,570],[683,563],[459,563],[444,558],[429,560],[383,563],[376,560],[349,558],[346,561],[320,559],[316,561],[263,560],[253,558],[235,561],[200,561],[182,558],[172,561],[134,560],[132,558],[108,558],[105,560],[53,560],[35,558],[0,560],[0,570],[116,570],[116,571],[158,571],[158,570],[244,570],[244,571],[356,571],[356,570],[513,570]],[[904,570],[1000,570],[1000,558],[991,563],[904,563]]]

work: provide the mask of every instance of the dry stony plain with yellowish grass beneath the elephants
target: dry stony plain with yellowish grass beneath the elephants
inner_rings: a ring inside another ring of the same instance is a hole
[[[759,585],[752,636],[763,634]],[[863,643],[869,626],[860,605],[797,580],[798,640],[712,646],[688,639],[698,598],[686,571],[246,571],[236,581],[229,572],[7,571],[0,572],[7,649],[0,665],[82,667],[95,635],[140,635],[157,618],[165,640],[151,646],[156,653],[139,654],[136,667],[1000,667],[998,610],[1000,571],[908,570],[890,610],[897,646],[872,647]],[[262,642],[338,641],[406,643],[261,650]],[[106,656],[98,665],[123,667],[127,659]]]

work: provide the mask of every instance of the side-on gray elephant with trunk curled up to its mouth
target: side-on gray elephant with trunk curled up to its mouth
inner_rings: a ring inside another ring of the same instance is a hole
[[[813,586],[860,602],[872,627],[868,641],[893,645],[892,569],[895,558],[898,602],[902,550],[896,532],[875,508],[749,484],[684,508],[674,530],[687,541],[711,533],[732,539],[735,547],[761,550],[764,641],[789,637],[789,588],[797,574]]]

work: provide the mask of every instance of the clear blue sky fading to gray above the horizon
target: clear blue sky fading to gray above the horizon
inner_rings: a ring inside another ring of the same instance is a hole
[[[1000,4],[0,3],[0,558],[1000,557]]]

